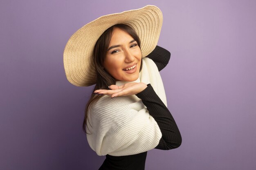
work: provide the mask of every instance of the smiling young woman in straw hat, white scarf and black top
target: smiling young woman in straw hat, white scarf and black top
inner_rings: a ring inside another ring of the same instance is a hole
[[[83,130],[97,155],[106,155],[99,170],[144,170],[148,150],[181,145],[159,74],[171,55],[156,45],[161,26],[162,12],[148,5],[86,24],[65,47],[67,79],[96,84]]]

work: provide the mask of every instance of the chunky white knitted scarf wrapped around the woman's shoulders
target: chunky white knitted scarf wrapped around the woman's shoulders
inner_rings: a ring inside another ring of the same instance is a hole
[[[134,82],[151,84],[167,107],[162,78],[156,64],[143,57],[139,78]],[[117,81],[121,86],[126,81]],[[155,119],[136,95],[110,98],[104,95],[91,105],[88,112],[87,140],[97,155],[125,156],[146,152],[155,148],[162,133]],[[91,127],[91,126],[92,127]]]

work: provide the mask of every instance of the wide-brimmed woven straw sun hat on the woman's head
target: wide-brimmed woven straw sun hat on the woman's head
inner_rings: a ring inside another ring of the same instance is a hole
[[[161,10],[147,5],[140,9],[104,15],[84,25],[70,37],[64,49],[63,62],[68,81],[75,86],[96,84],[93,50],[101,34],[110,26],[131,26],[141,40],[142,57],[146,57],[157,45],[162,22]]]

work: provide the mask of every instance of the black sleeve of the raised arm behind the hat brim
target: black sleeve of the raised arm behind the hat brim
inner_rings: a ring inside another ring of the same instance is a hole
[[[152,59],[157,65],[158,71],[161,71],[168,64],[171,53],[160,46],[156,46],[146,57]]]

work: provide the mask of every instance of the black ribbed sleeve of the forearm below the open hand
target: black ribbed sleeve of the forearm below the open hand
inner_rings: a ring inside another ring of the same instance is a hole
[[[151,84],[147,84],[147,87],[136,96],[142,100],[162,132],[162,138],[155,148],[161,150],[178,148],[182,142],[180,131],[173,116],[155,93]]]

